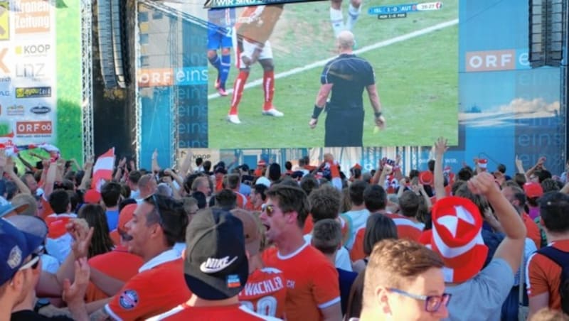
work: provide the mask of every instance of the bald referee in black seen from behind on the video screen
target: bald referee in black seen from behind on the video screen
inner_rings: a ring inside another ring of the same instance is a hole
[[[376,88],[376,76],[369,62],[353,54],[353,34],[350,31],[339,33],[336,45],[340,55],[329,61],[322,71],[322,85],[309,126],[311,129],[316,127],[318,116],[332,92],[326,108],[324,146],[363,146],[364,88],[368,91],[376,125],[380,129],[385,127]]]

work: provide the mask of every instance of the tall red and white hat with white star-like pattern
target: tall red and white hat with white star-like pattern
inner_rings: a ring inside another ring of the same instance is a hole
[[[445,282],[461,283],[476,276],[488,254],[482,239],[482,215],[464,197],[445,197],[432,207],[431,249],[445,262]]]

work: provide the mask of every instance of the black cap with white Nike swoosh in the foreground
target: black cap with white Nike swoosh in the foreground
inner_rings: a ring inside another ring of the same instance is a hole
[[[184,276],[199,298],[225,300],[238,295],[249,276],[241,220],[220,209],[198,212],[186,231]]]

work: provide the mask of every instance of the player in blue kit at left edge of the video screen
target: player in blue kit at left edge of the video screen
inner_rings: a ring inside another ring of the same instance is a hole
[[[208,10],[208,60],[218,70],[216,89],[221,96],[227,96],[225,82],[231,67],[231,48],[235,9]],[[221,49],[221,58],[218,50]]]

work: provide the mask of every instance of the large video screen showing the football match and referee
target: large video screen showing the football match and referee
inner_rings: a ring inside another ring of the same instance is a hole
[[[209,148],[456,141],[458,1],[343,1],[341,13],[331,4],[208,11]],[[315,103],[326,108],[311,127]]]

